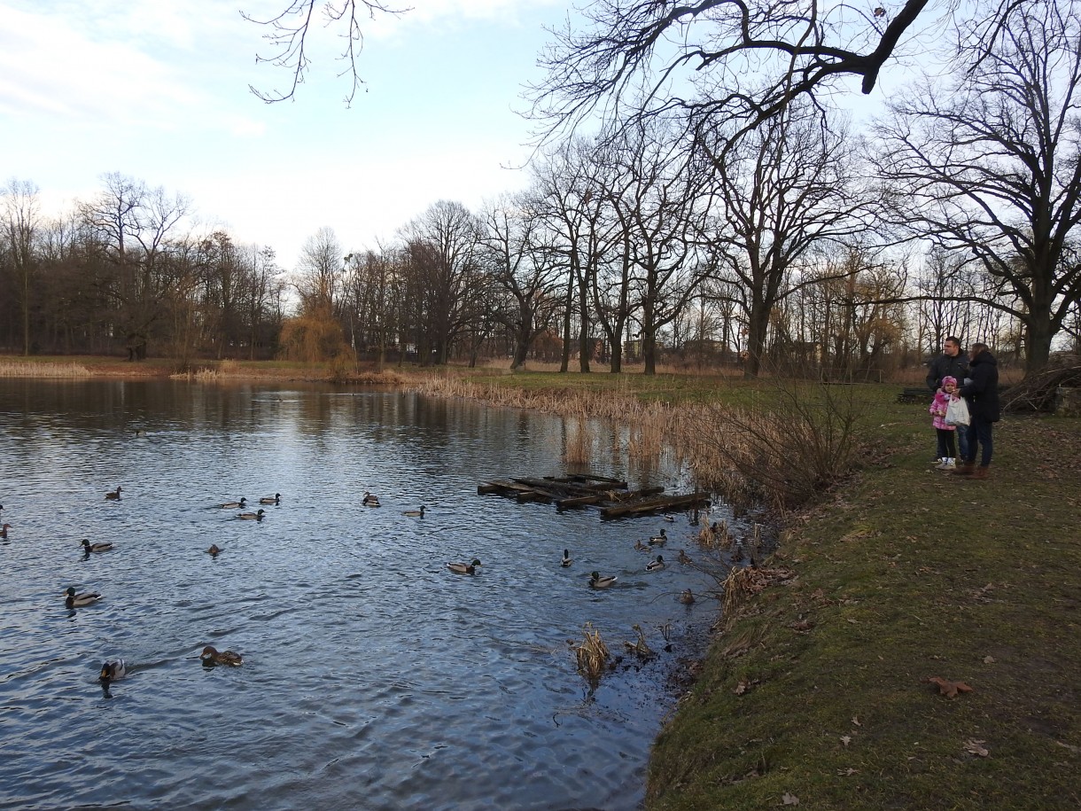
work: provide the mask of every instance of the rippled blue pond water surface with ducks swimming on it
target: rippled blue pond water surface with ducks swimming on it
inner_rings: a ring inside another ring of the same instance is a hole
[[[0,380],[0,806],[636,807],[665,674],[717,610],[679,595],[716,585],[644,571],[659,519],[477,495],[562,473],[563,441],[558,418],[398,391]],[[596,467],[673,483],[623,464]],[[275,493],[262,521],[216,506]],[[666,559],[700,556],[686,516],[666,526]],[[68,611],[68,586],[103,599]],[[671,651],[590,695],[568,644],[587,622],[613,653],[635,623]],[[206,644],[243,665],[203,667]]]

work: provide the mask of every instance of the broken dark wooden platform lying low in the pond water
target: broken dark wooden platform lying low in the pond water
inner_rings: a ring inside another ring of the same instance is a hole
[[[519,502],[553,502],[559,509],[596,506],[602,518],[652,515],[707,504],[706,493],[664,495],[663,487],[628,490],[627,482],[593,474],[497,479],[477,486],[478,495],[502,495]]]

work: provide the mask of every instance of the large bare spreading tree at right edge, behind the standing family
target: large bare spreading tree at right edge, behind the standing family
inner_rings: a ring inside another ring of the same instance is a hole
[[[967,69],[946,99],[926,85],[879,127],[897,223],[998,280],[985,302],[1024,323],[1029,372],[1081,297],[1067,250],[1081,223],[1078,12],[1031,0],[991,35],[962,32]]]

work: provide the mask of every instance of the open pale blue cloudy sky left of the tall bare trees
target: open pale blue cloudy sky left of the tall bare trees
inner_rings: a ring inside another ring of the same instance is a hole
[[[438,200],[476,211],[526,185],[522,87],[569,0],[411,0],[362,21],[351,106],[339,29],[313,26],[296,98],[267,105],[249,85],[291,77],[256,64],[267,30],[239,12],[288,4],[0,0],[0,183],[31,181],[55,216],[119,172],[185,195],[197,231],[270,245],[284,269],[321,227],[345,252],[376,249]]]

